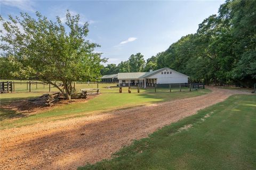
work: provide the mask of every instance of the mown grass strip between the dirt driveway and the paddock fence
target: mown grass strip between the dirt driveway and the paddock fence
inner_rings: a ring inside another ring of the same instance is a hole
[[[104,85],[104,84],[102,84]],[[116,93],[107,93],[114,92]],[[1,108],[0,110],[0,129],[14,128],[26,126],[42,122],[50,122],[62,120],[65,118],[90,116],[103,112],[114,111],[115,109],[123,109],[134,106],[147,105],[158,103],[162,101],[169,101],[175,99],[182,99],[188,97],[196,97],[210,92],[209,89],[202,89],[192,92],[150,92],[152,89],[143,89],[141,93],[133,92],[132,94],[123,93],[119,94],[118,89],[107,90],[105,93],[93,99],[88,100],[86,103],[73,103],[68,105],[61,105],[54,107],[48,111],[38,112],[30,115],[26,113],[20,114],[18,111],[9,111],[8,109]],[[13,93],[2,94],[1,103],[10,104],[22,99],[35,97],[37,93]],[[42,94],[40,94],[42,95]]]

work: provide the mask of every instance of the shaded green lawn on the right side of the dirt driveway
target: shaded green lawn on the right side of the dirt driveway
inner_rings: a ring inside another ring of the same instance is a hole
[[[78,169],[256,169],[256,96],[231,96]]]

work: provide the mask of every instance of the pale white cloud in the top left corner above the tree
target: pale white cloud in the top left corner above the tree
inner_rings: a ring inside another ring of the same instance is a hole
[[[6,6],[17,7],[22,11],[35,12],[35,4],[32,1],[23,1],[23,0],[2,0],[1,4]]]

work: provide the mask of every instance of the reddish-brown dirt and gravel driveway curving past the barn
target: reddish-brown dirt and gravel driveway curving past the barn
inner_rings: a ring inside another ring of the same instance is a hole
[[[76,169],[110,158],[134,139],[236,94],[211,89],[193,98],[2,130],[0,169]]]

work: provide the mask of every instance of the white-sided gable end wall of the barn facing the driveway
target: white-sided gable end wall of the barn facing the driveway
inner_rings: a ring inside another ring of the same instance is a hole
[[[169,74],[167,74],[167,71]],[[166,74],[162,74],[162,72],[166,72]],[[165,69],[162,72],[156,73],[147,79],[157,79],[157,84],[188,83],[188,77],[178,72],[169,69]],[[170,74],[170,72],[172,73]]]

